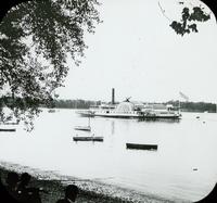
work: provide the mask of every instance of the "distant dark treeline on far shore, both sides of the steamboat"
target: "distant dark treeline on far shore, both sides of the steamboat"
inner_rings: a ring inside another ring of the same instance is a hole
[[[100,105],[101,101],[89,100],[54,100],[54,107],[58,109],[89,109],[91,105]],[[179,101],[168,101],[164,104],[173,104],[179,106]],[[180,102],[183,112],[216,112],[215,103],[205,102]]]

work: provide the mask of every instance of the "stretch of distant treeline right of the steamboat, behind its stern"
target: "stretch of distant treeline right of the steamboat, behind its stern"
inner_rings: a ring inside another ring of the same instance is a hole
[[[169,101],[167,104],[173,104],[174,106],[179,105],[179,101]],[[215,103],[205,102],[180,102],[180,109],[182,112],[216,112]]]

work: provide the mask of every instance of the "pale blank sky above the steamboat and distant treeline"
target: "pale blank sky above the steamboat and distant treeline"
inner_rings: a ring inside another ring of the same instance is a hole
[[[102,2],[102,0],[100,1]],[[159,4],[169,20],[180,18],[182,5]],[[199,5],[199,1],[191,0]],[[99,8],[103,23],[87,34],[88,49],[80,66],[71,67],[61,99],[164,102],[217,102],[217,25],[214,15],[199,23],[199,33],[181,37],[169,27],[157,0],[105,0]],[[209,10],[206,8],[206,11]]]

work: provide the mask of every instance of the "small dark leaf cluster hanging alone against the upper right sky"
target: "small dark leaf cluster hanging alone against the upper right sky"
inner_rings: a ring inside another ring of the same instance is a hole
[[[210,15],[205,13],[201,7],[194,7],[190,12],[189,8],[183,8],[181,21],[173,21],[170,27],[178,34],[183,36],[191,31],[197,33],[197,26],[195,22],[206,22],[210,18]]]

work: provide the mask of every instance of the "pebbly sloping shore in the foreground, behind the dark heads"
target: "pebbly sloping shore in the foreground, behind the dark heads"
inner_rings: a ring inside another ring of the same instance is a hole
[[[64,189],[67,185],[74,183],[79,188],[77,203],[165,203],[183,202],[180,200],[171,201],[159,196],[145,195],[133,190],[105,185],[100,181],[82,180],[68,176],[60,176],[54,172],[33,169],[8,162],[0,162],[0,174],[2,182],[9,172],[22,174],[27,172],[33,176],[30,186],[43,188],[48,193],[41,193],[42,203],[55,203],[64,196]]]

